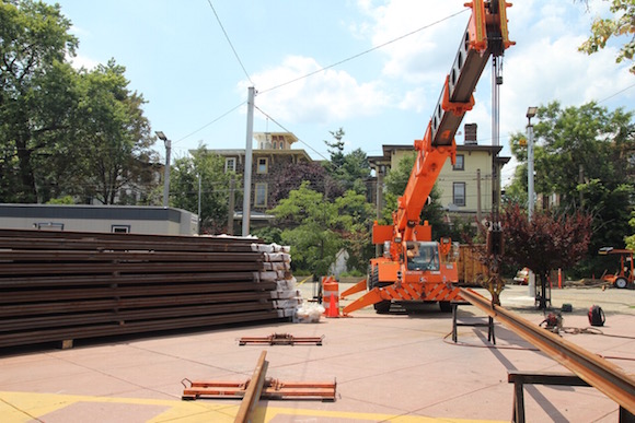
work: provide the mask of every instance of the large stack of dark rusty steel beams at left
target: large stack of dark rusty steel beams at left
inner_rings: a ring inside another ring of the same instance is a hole
[[[253,243],[0,230],[0,348],[280,319]]]

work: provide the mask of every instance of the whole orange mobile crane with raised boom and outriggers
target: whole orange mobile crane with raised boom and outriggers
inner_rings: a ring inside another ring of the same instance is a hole
[[[423,140],[415,140],[417,152],[405,191],[393,212],[392,225],[373,225],[373,244],[383,245],[383,256],[370,261],[368,279],[342,293],[342,297],[368,290],[344,307],[343,313],[373,305],[388,313],[392,302],[439,302],[449,310],[459,299],[457,266],[449,259],[450,239],[431,240],[431,226],[420,224],[422,210],[449,157],[454,164],[454,134],[466,111],[474,106],[473,92],[489,57],[500,57],[513,45],[507,31],[507,8],[503,0],[474,0],[459,51],[446,78],[435,113]]]

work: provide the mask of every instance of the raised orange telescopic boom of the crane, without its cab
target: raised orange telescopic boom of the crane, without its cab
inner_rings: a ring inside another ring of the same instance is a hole
[[[393,214],[391,240],[417,238],[416,234],[420,233],[416,231],[419,216],[439,173],[448,157],[454,164],[454,136],[463,116],[474,106],[472,93],[483,69],[490,56],[501,56],[513,44],[507,31],[507,7],[511,4],[497,0],[474,0],[465,5],[472,8],[472,15],[424,139],[414,143],[417,157]],[[428,237],[428,233],[425,233],[424,238]],[[383,234],[388,234],[388,231],[383,231]],[[384,240],[388,239],[373,237],[376,243]]]

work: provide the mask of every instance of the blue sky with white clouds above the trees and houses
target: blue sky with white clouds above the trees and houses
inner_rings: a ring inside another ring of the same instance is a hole
[[[256,110],[254,131],[291,131],[301,140],[296,148],[315,160],[328,156],[324,140],[340,127],[346,151],[378,155],[382,144],[409,144],[424,136],[470,16],[465,0],[50,2],[73,23],[76,66],[111,58],[125,66],[130,89],[148,102],[152,130],[165,132],[176,157],[199,144],[244,149],[246,106],[239,105],[252,84],[256,106],[273,118]],[[523,0],[508,10],[517,45],[506,52],[500,89],[505,155],[509,134],[524,130],[528,106],[594,99],[610,110],[635,109],[635,75],[630,63],[615,63],[616,47],[577,51],[592,19],[608,13],[607,1],[588,4]],[[478,124],[482,144],[492,143],[489,69],[463,120]],[[161,141],[155,149],[164,154]],[[504,184],[512,169],[503,171]]]

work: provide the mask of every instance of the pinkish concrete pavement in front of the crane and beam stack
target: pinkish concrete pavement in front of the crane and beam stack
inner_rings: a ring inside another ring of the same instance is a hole
[[[504,306],[540,324],[526,286],[504,292]],[[635,291],[566,292],[562,336],[635,374]],[[557,299],[552,292],[552,302]],[[619,297],[614,297],[617,295]],[[607,325],[588,328],[587,304],[607,302]],[[345,303],[344,301],[342,303]],[[530,305],[528,306],[527,303]],[[626,305],[626,306],[625,306]],[[475,307],[459,316],[476,321]],[[263,350],[267,376],[289,381],[337,381],[335,402],[261,401],[256,422],[509,421],[507,372],[566,371],[504,326],[497,344],[486,328],[460,327],[436,307],[417,315],[376,315],[319,324],[257,325],[148,338],[76,342],[71,350],[38,346],[0,351],[0,415],[7,422],[231,422],[239,400],[182,401],[182,380],[244,381]],[[239,345],[243,336],[324,336],[323,345]],[[611,422],[617,406],[594,388],[526,387],[528,421]]]

